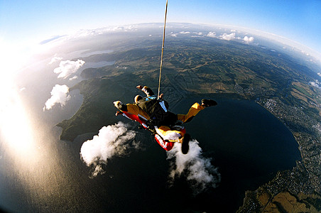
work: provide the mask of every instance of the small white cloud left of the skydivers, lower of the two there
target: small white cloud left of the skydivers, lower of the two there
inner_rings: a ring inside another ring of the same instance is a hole
[[[55,87],[53,87],[50,92],[50,99],[45,102],[43,111],[45,111],[45,109],[51,109],[55,104],[60,104],[61,107],[65,106],[66,102],[70,99],[70,95],[67,94],[68,92],[69,87],[67,87],[67,85],[55,84]]]

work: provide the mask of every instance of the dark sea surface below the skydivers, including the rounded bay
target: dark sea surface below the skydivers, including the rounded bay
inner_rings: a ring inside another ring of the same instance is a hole
[[[29,181],[28,190],[21,187],[21,175],[33,179],[33,174],[12,171],[8,175],[10,169],[4,163],[10,163],[10,158],[0,146],[4,169],[0,173],[0,207],[13,212],[235,212],[246,190],[256,190],[278,170],[295,166],[295,160],[300,160],[298,143],[281,121],[253,101],[197,96],[170,110],[186,113],[202,98],[216,99],[219,104],[200,111],[185,126],[200,143],[202,155],[212,158],[212,165],[218,168],[221,182],[216,188],[195,195],[184,175],[170,187],[165,151],[148,131],[138,130],[121,117],[137,132],[142,149],[111,158],[104,166],[106,173],[89,178],[91,171],[80,159],[80,147],[92,134],[73,142],[53,141],[51,167],[57,170],[48,175],[48,190],[35,181]],[[59,135],[57,130],[54,133]],[[56,190],[49,190],[55,185],[59,185]]]

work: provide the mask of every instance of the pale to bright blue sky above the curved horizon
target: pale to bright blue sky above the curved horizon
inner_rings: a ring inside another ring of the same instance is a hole
[[[0,45],[79,29],[163,22],[165,0],[0,0]],[[321,53],[321,1],[169,0],[168,22],[224,24],[281,35]]]

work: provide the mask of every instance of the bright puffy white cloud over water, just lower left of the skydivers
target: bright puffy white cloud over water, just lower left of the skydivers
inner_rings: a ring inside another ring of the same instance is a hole
[[[119,122],[102,127],[97,136],[82,143],[80,158],[87,166],[92,167],[91,178],[103,174],[102,166],[107,165],[107,161],[112,157],[129,153],[129,148],[140,148],[136,143],[127,143],[133,140],[135,135],[134,131],[127,130],[127,126]]]

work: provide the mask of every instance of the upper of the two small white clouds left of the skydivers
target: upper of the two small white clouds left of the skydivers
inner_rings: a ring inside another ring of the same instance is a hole
[[[77,61],[64,60],[60,62],[59,67],[55,68],[53,72],[60,73],[58,78],[66,78],[73,73],[77,72],[82,65],[85,64],[85,61],[78,59]]]

